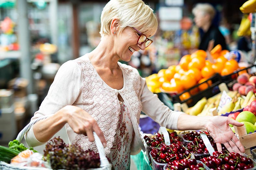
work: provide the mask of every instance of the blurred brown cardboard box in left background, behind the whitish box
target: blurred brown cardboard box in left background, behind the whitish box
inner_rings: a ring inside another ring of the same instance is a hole
[[[8,88],[14,90],[15,97],[24,97],[27,95],[27,86],[29,81],[25,78],[14,78],[8,82]]]

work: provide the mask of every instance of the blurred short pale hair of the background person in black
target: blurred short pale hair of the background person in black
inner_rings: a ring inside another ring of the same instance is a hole
[[[203,15],[210,15],[210,19],[213,20],[215,17],[215,9],[211,4],[208,3],[199,3],[192,9],[192,14],[196,15],[197,12],[203,12]]]

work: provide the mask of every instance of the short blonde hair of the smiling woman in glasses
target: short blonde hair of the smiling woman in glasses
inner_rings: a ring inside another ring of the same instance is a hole
[[[113,18],[119,20],[120,32],[127,27],[135,27],[146,35],[157,30],[157,18],[153,10],[142,0],[110,0],[102,10],[100,35],[109,35]]]

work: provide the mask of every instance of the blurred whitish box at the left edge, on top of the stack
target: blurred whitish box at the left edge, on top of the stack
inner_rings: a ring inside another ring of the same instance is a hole
[[[0,89],[0,109],[10,108],[14,103],[13,89]]]

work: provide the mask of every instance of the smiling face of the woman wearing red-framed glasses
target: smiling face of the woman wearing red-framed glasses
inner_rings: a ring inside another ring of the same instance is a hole
[[[145,43],[137,43],[140,34],[132,27],[127,26],[118,36],[116,41],[117,55],[119,55],[123,61],[130,61],[135,51],[145,50]],[[149,37],[150,35],[146,36]]]

